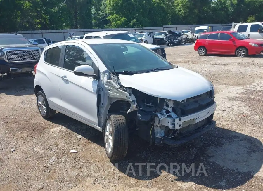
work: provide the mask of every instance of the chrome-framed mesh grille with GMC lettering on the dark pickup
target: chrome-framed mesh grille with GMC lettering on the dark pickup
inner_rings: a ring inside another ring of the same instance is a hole
[[[6,51],[8,62],[39,60],[39,50],[10,50]]]

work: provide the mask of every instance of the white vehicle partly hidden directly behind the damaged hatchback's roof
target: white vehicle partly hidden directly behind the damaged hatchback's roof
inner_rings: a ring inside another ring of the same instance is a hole
[[[136,43],[140,43],[142,46],[145,46],[146,48],[151,49],[152,51],[156,52],[157,54],[159,54],[160,56],[166,59],[165,48],[153,44],[143,43],[128,31],[112,30],[112,31],[91,32],[85,34],[84,39],[120,39],[120,40],[136,42]]]

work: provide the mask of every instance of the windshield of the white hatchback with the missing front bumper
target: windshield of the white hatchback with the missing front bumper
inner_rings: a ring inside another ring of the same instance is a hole
[[[112,43],[91,44],[89,46],[110,72],[115,70],[115,72],[131,71],[141,73],[155,68],[172,69],[176,67],[140,44]]]

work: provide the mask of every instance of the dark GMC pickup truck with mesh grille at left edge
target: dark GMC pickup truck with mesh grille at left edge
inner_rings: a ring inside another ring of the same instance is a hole
[[[0,80],[15,76],[33,76],[41,48],[21,34],[0,34]],[[7,74],[7,75],[4,75]]]

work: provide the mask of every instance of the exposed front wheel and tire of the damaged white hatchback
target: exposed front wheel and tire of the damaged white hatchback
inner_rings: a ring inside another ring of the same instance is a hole
[[[125,116],[122,114],[108,114],[103,135],[108,158],[110,160],[123,159],[127,154],[129,143]]]

